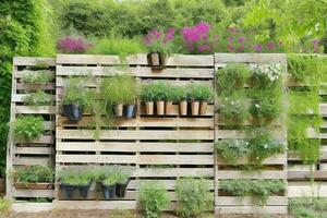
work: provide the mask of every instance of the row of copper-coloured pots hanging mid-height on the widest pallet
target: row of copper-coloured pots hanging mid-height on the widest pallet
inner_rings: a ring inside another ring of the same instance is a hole
[[[205,116],[207,112],[207,102],[206,101],[191,101],[191,114],[192,116]],[[154,101],[145,102],[146,114],[153,116],[155,109]],[[156,111],[158,116],[172,114],[172,101],[156,101]],[[179,112],[180,116],[187,114],[187,101],[183,100],[179,102]]]

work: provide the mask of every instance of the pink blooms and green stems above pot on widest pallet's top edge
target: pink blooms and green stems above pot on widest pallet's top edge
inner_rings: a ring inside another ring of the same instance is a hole
[[[144,43],[150,52],[169,55],[172,48],[173,36],[174,28],[168,28],[166,33],[153,29],[144,37]]]

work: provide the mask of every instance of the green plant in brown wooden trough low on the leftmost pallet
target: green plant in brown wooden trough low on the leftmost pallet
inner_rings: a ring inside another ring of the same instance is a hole
[[[55,170],[44,166],[24,166],[13,169],[11,174],[15,189],[52,190]]]

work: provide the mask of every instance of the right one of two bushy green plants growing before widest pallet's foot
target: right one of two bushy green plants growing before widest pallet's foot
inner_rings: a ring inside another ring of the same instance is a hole
[[[180,179],[177,181],[177,214],[181,217],[197,217],[211,209],[209,184],[204,179]]]

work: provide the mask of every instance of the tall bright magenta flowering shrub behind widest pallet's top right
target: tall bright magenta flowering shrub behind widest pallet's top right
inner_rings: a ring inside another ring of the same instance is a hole
[[[209,32],[210,26],[205,22],[199,22],[195,26],[182,28],[182,38],[190,53],[213,51]]]

